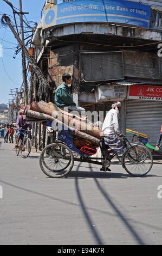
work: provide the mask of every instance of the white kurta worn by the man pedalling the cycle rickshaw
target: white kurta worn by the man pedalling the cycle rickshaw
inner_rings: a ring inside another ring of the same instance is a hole
[[[103,122],[102,131],[104,135],[120,134],[118,113],[114,108],[107,113]]]

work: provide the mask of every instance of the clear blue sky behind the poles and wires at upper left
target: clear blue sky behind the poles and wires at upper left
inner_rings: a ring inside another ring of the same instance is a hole
[[[18,8],[18,0],[9,0],[14,7]],[[45,0],[22,0],[23,11],[29,14],[26,15],[28,21],[39,22],[41,20],[41,11]],[[62,1],[58,1],[58,4]],[[12,9],[8,4],[0,0],[0,19],[3,14],[13,16]],[[12,19],[12,18],[11,18]],[[32,23],[31,23],[32,25]],[[33,23],[34,25],[34,23]],[[8,41],[8,42],[6,42]],[[16,59],[13,58],[17,40],[10,29],[3,28],[0,23],[0,44],[3,45],[3,58],[0,55],[0,104],[8,103],[12,99],[10,88],[21,88],[22,84],[22,65],[21,54],[18,54]],[[1,48],[0,48],[1,54]],[[5,71],[6,70],[6,71]]]

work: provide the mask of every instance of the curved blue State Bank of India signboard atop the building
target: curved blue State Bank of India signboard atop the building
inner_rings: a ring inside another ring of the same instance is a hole
[[[78,22],[110,22],[148,28],[150,5],[129,1],[75,0],[44,11],[43,29]]]

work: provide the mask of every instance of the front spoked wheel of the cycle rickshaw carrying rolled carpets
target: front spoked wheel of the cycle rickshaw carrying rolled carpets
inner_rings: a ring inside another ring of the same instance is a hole
[[[144,176],[153,164],[152,154],[144,145],[132,145],[122,156],[122,166],[132,176]]]

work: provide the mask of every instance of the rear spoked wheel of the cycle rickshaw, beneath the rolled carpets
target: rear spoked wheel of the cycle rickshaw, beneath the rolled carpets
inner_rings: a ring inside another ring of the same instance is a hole
[[[43,149],[40,167],[51,178],[62,178],[72,170],[74,157],[72,150],[63,143],[52,143]]]

